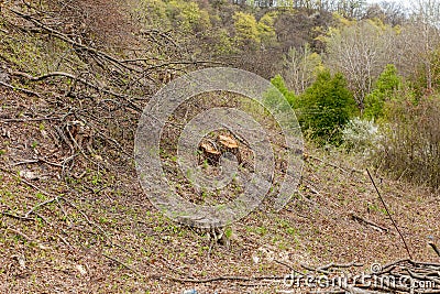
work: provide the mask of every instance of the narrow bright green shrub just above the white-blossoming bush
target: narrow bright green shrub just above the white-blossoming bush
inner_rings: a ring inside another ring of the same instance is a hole
[[[382,118],[385,101],[389,100],[400,85],[402,78],[397,74],[396,66],[386,65],[376,80],[374,90],[365,97],[364,117],[374,120]]]

